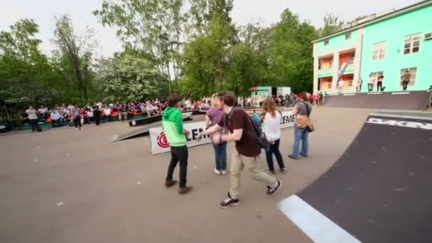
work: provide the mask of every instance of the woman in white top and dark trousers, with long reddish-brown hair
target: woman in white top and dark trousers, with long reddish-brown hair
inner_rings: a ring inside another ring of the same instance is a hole
[[[276,111],[276,104],[273,99],[266,99],[263,108],[266,112],[263,129],[270,144],[269,149],[266,151],[269,173],[274,173],[273,154],[276,156],[276,161],[278,161],[281,172],[286,173],[284,159],[282,158],[281,151],[279,151],[279,144],[281,142],[281,113]]]

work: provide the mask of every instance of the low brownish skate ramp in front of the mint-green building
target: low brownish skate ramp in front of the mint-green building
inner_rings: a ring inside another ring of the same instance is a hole
[[[361,92],[329,95],[325,107],[406,109],[423,111],[431,102],[431,90],[404,92]]]

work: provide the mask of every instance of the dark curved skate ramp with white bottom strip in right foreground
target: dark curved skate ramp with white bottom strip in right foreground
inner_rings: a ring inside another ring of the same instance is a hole
[[[431,191],[431,114],[384,111],[278,207],[313,242],[432,242]]]

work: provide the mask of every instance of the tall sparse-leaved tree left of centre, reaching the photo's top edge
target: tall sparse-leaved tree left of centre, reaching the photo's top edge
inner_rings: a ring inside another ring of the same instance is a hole
[[[180,38],[187,14],[183,0],[104,0],[102,8],[93,11],[104,26],[117,28],[117,36],[125,45],[145,50],[158,60],[158,68],[166,76],[171,90],[171,76],[177,86],[180,69]],[[173,75],[171,75],[171,67]]]

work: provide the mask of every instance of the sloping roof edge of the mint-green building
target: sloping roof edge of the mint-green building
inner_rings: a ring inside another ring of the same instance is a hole
[[[419,1],[415,4],[411,4],[409,6],[405,6],[401,9],[397,9],[397,10],[392,10],[392,11],[384,11],[382,13],[374,13],[370,16],[367,16],[365,18],[360,19],[359,21],[354,21],[349,23],[349,26],[347,26],[346,28],[342,29],[342,31],[338,31],[336,33],[331,34],[330,36],[325,36],[323,38],[319,38],[318,40],[312,41],[313,43],[319,42],[319,41],[324,41],[327,40],[328,38],[332,38],[335,36],[339,36],[342,33],[346,33],[346,32],[350,32],[350,31],[354,31],[357,28],[361,28],[363,26],[368,26],[372,23],[377,23],[379,21],[383,21],[384,19],[387,18],[392,18],[394,16],[409,12],[409,11],[413,11],[415,9],[420,9],[423,6],[428,6],[432,4],[432,0],[424,0],[424,1]]]

